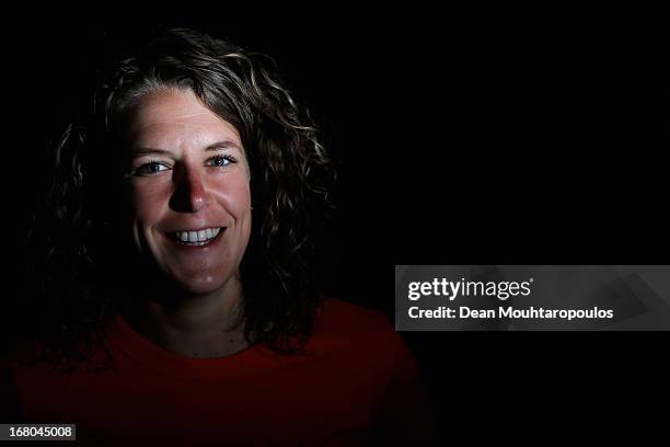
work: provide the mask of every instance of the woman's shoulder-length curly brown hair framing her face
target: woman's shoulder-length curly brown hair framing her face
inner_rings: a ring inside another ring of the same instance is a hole
[[[172,28],[111,64],[54,145],[53,181],[30,236],[46,300],[47,353],[91,358],[104,346],[106,321],[123,306],[109,285],[137,266],[118,219],[127,206],[119,193],[123,163],[109,153],[124,113],[160,88],[193,91],[240,133],[254,222],[240,267],[245,335],[279,352],[300,351],[322,300],[313,262],[323,219],[333,209],[334,163],[269,57]]]

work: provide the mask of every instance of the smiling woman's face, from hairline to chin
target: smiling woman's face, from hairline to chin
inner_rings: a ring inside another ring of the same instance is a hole
[[[236,129],[190,91],[158,90],[129,115],[132,238],[190,294],[238,273],[251,231],[250,172]]]

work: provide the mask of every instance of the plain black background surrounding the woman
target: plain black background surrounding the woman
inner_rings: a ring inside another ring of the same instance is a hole
[[[392,318],[393,264],[668,264],[668,35],[654,11],[261,8],[4,28],[5,317],[45,140],[106,51],[159,23],[269,54],[312,111],[342,161],[343,299]],[[403,336],[440,440],[482,422],[598,429],[597,415],[611,434],[622,401],[663,389],[655,334]],[[564,405],[565,424],[544,417]]]

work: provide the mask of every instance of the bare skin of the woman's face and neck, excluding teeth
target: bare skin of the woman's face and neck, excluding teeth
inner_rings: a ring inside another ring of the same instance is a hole
[[[129,112],[126,182],[134,245],[157,274],[126,319],[176,354],[222,357],[246,347],[232,328],[251,232],[250,171],[238,130],[188,90],[143,95]],[[183,247],[175,231],[222,227],[216,243]]]

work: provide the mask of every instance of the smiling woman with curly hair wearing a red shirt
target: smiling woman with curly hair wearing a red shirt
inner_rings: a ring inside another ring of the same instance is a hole
[[[264,57],[161,33],[55,162],[33,240],[57,324],[10,363],[16,417],[109,445],[427,439],[385,317],[315,286],[332,163]]]

